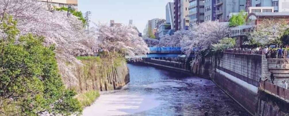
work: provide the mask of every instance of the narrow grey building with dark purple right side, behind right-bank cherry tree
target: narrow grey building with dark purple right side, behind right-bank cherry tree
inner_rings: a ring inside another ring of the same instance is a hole
[[[205,0],[205,15],[204,15],[204,21],[214,21],[216,19],[216,7],[214,4],[216,3],[216,0]]]

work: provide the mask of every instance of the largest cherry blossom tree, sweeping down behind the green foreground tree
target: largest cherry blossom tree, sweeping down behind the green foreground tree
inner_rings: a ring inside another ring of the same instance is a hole
[[[73,71],[81,64],[74,56],[90,53],[92,40],[77,17],[67,12],[51,10],[46,2],[38,0],[0,0],[0,15],[12,15],[17,20],[20,35],[31,33],[44,36],[44,45],[54,44],[58,68],[66,85],[77,84]],[[67,65],[71,64],[71,65]]]

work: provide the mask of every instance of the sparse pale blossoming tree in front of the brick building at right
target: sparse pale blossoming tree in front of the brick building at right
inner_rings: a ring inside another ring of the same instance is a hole
[[[272,43],[281,44],[280,37],[287,28],[289,28],[289,26],[284,20],[263,20],[261,23],[255,25],[256,30],[249,34],[249,41],[244,42],[244,44],[257,44],[259,46]]]

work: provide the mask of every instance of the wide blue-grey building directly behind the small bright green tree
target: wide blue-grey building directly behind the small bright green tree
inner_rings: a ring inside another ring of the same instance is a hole
[[[216,0],[216,19],[220,22],[229,20],[229,14],[246,9],[246,0]]]

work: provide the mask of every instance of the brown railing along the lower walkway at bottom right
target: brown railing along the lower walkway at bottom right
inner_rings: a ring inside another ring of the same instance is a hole
[[[274,85],[272,83],[268,83],[265,81],[261,81],[260,88],[270,92],[271,94],[278,96],[284,100],[289,100],[289,90],[279,87],[277,85]]]

